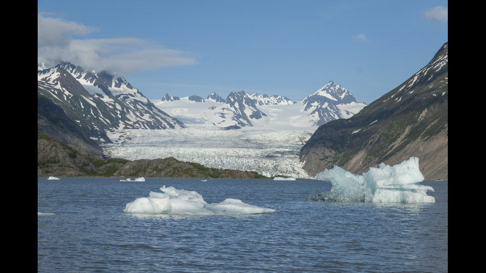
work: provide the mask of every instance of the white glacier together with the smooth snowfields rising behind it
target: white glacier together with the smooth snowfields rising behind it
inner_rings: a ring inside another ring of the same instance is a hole
[[[346,91],[346,94],[348,93]],[[247,97],[243,92],[238,94]],[[231,118],[231,114],[215,114],[215,109],[230,107],[229,103],[222,104],[209,98],[201,99],[200,102],[189,97],[172,100],[167,95],[167,98],[164,96],[162,100],[153,100],[152,103],[159,109],[164,109],[170,116],[181,120],[185,128],[107,131],[112,143],[102,146],[106,156],[127,160],[173,157],[211,168],[255,171],[268,177],[282,175],[315,178],[310,177],[304,170],[304,164],[299,161],[299,154],[305,142],[315,132],[317,124],[324,121],[318,112],[309,114],[303,102],[261,103],[258,109],[265,114],[260,118],[251,119],[252,126],[223,130],[237,127],[230,125],[239,124]],[[230,98],[233,97],[228,96],[227,101]],[[266,99],[268,98],[269,96]],[[263,96],[260,99],[263,100]],[[236,104],[243,101],[241,99],[232,102]],[[364,106],[354,101],[336,105],[333,107],[335,111],[330,113],[333,116],[329,116],[329,119],[349,118]],[[248,107],[249,105],[246,105],[237,109],[247,110]],[[256,105],[254,107],[256,108]],[[310,110],[314,111],[315,107]],[[252,113],[253,111],[246,112],[246,116],[251,116]]]

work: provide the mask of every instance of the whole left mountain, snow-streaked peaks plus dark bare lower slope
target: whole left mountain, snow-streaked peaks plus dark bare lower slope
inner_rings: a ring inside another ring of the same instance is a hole
[[[51,68],[38,66],[37,98],[37,133],[67,144],[92,147],[93,143],[110,143],[106,131],[111,129],[185,127],[155,107],[124,78],[84,71],[70,63]]]

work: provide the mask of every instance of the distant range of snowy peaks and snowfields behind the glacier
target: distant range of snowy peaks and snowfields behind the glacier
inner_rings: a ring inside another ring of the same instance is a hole
[[[223,101],[212,93],[206,100],[190,96],[177,102],[166,94],[154,104],[186,125],[206,124],[218,127],[315,127],[334,119],[349,118],[366,104],[357,103],[351,93],[330,81],[300,102],[278,95],[230,93]]]

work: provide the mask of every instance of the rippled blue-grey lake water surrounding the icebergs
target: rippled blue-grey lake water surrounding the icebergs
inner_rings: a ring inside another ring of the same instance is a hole
[[[448,182],[435,203],[305,201],[319,180],[37,179],[38,272],[448,272]],[[274,209],[231,216],[124,213],[162,186]]]

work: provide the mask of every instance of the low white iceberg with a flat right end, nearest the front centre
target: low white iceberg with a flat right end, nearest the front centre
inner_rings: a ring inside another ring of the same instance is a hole
[[[275,210],[243,203],[239,199],[226,199],[221,203],[208,204],[195,191],[179,190],[163,186],[162,192],[150,192],[126,204],[123,212],[137,214],[169,214],[182,216],[246,215],[273,213]]]

